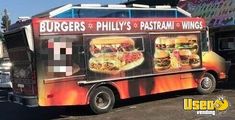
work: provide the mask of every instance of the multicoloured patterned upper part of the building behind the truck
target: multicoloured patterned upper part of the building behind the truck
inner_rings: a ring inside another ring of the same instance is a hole
[[[235,24],[234,0],[184,0],[179,6],[193,16],[205,18],[213,28]]]

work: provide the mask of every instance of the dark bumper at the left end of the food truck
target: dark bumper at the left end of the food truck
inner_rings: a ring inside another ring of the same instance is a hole
[[[28,107],[37,107],[38,106],[38,97],[37,96],[23,96],[17,95],[13,92],[8,93],[8,101],[14,102],[17,104],[25,105]]]

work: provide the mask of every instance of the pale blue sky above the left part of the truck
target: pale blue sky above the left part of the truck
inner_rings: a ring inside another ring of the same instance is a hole
[[[12,23],[20,16],[33,16],[40,12],[49,10],[65,4],[115,4],[127,0],[0,0],[0,16],[7,9]]]

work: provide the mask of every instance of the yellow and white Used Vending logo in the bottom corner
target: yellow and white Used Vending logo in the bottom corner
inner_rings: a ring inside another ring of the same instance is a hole
[[[219,96],[215,100],[184,99],[184,110],[196,111],[198,115],[215,115],[227,111],[229,106],[229,101],[224,96]]]

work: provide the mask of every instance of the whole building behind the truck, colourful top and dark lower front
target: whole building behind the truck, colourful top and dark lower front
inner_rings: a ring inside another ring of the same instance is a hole
[[[213,51],[235,63],[235,0],[183,0],[178,6],[206,19]]]

